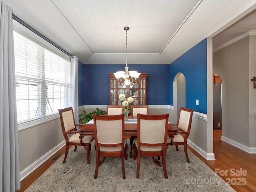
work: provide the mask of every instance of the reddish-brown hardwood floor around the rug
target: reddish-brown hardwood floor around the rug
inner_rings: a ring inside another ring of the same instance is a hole
[[[202,162],[217,173],[224,181],[231,184],[238,192],[256,191],[256,154],[248,154],[224,141],[221,141],[222,130],[213,131],[214,155],[216,160],[206,160],[190,146],[188,149],[193,152]],[[64,154],[62,148],[56,154]],[[24,192],[38,177],[40,177],[52,164],[54,154],[44,164],[21,181],[21,188],[16,192]],[[226,172],[226,174],[224,174]],[[210,179],[210,178],[209,178]],[[244,185],[245,184],[245,185]]]

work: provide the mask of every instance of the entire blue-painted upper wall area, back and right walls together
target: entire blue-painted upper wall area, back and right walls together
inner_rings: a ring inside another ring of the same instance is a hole
[[[78,63],[78,104],[108,105],[109,73],[124,71],[125,64]],[[147,104],[173,106],[173,81],[181,72],[186,78],[186,107],[207,114],[207,40],[204,39],[171,64],[128,64],[129,70],[147,73]],[[196,99],[199,105],[196,105]]]

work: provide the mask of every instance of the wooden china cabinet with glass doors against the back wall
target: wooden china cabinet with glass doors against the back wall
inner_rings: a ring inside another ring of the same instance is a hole
[[[124,94],[126,98],[133,97],[134,102],[132,105],[146,105],[146,79],[147,73],[140,74],[138,84],[135,86],[118,84],[113,73],[109,74],[110,77],[110,105],[121,105],[118,96]]]

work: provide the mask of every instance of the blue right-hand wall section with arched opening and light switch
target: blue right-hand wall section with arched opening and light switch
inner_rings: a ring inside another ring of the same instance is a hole
[[[173,105],[174,77],[179,72],[186,78],[186,107],[207,114],[207,39],[170,64],[170,105]]]

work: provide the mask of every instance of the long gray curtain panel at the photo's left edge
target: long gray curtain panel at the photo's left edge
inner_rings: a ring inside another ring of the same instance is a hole
[[[12,8],[0,14],[0,192],[20,189]]]

